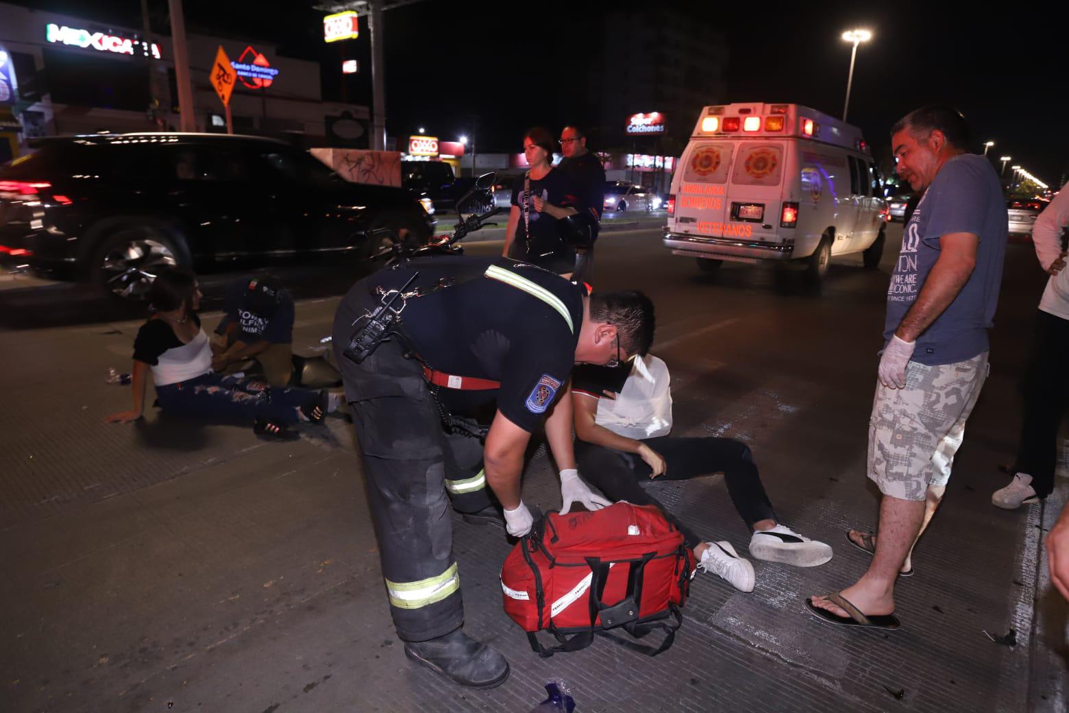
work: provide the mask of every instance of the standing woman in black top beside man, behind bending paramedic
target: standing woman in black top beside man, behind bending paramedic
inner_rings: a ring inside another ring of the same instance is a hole
[[[553,168],[553,135],[541,126],[524,135],[524,155],[530,170],[512,189],[501,254],[571,277],[575,250],[558,233],[557,220],[576,213],[572,179]]]

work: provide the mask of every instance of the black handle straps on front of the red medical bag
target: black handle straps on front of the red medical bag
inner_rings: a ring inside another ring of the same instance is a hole
[[[553,654],[561,651],[579,651],[582,649],[586,649],[593,642],[594,634],[604,636],[605,638],[608,638],[626,649],[631,649],[632,651],[636,651],[647,656],[655,656],[659,653],[667,651],[671,648],[671,645],[676,640],[676,631],[683,624],[683,614],[675,604],[669,606],[670,614],[675,618],[675,623],[665,623],[663,621],[637,623],[639,604],[642,601],[642,574],[646,570],[646,565],[655,555],[656,553],[648,553],[644,555],[640,560],[628,562],[629,572],[626,593],[620,602],[614,604],[613,606],[606,606],[602,601],[602,598],[605,594],[605,585],[608,582],[608,572],[611,562],[603,562],[598,557],[588,557],[587,564],[590,567],[591,571],[590,593],[587,596],[590,610],[590,627],[586,631],[574,634],[571,638],[567,638],[563,634],[556,631],[551,620],[548,631],[557,637],[558,641],[561,642],[560,646],[546,648],[538,640],[538,636],[534,632],[528,632],[527,640],[530,641],[531,650],[542,658],[548,658]],[[541,608],[542,605],[540,604],[540,613]],[[602,620],[601,626],[597,623],[599,615]],[[539,623],[541,623],[541,621]],[[642,638],[654,630],[665,632],[665,638],[661,642],[661,646],[656,648],[642,644],[635,644],[634,641],[620,638],[606,631],[617,626],[622,626],[624,631],[635,638]]]

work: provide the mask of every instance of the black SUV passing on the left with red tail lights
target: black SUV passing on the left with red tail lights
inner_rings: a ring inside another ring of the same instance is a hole
[[[140,297],[153,267],[370,258],[433,220],[402,188],[346,183],[280,141],[212,134],[44,139],[0,166],[0,259]]]

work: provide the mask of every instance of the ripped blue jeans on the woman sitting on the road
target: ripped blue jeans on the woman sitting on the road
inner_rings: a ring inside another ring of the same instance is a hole
[[[164,410],[175,416],[249,423],[269,418],[296,423],[300,419],[297,409],[314,404],[319,392],[275,387],[259,390],[242,384],[239,376],[207,373],[157,386],[156,397]]]

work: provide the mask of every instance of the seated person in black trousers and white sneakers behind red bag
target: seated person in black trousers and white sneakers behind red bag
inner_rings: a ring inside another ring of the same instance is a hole
[[[817,567],[832,559],[830,545],[802,537],[776,518],[746,444],[668,435],[672,424],[668,368],[655,356],[637,356],[618,366],[576,367],[572,404],[575,459],[583,477],[611,500],[660,508],[707,572],[715,572],[741,591],[754,590],[754,565],[730,543],[701,540],[639,482],[723,472],[728,495],[753,532],[750,555],[795,567]]]

